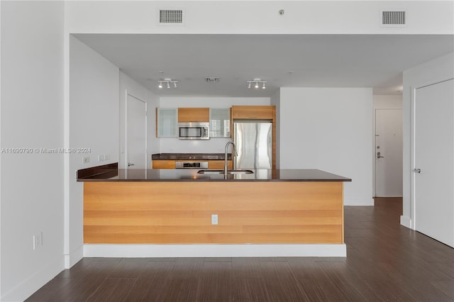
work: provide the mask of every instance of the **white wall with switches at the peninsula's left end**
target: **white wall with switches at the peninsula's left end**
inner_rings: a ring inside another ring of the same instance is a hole
[[[119,69],[70,37],[69,132],[72,148],[90,148],[87,154],[74,153],[68,158],[65,181],[69,196],[65,201],[65,265],[82,259],[83,251],[83,183],[76,181],[78,169],[118,162],[119,146]],[[98,155],[110,160],[99,162]],[[83,163],[89,156],[90,162]]]

